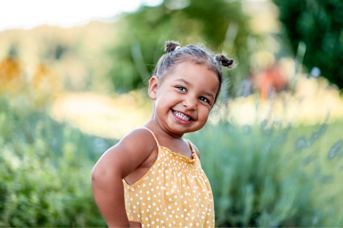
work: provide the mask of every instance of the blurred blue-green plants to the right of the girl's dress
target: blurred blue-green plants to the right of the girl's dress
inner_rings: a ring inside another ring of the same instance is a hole
[[[220,121],[190,133],[211,183],[216,227],[341,227],[342,124],[277,130]]]

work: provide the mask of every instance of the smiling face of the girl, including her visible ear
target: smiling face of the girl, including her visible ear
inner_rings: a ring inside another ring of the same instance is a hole
[[[149,96],[155,100],[153,119],[172,133],[198,131],[209,117],[218,89],[218,77],[206,65],[178,64],[162,84],[156,76],[149,80]],[[191,118],[180,120],[174,111]]]

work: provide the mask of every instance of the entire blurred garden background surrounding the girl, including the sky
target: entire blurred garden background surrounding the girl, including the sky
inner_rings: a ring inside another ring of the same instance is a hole
[[[150,120],[148,81],[167,40],[238,64],[204,128],[185,134],[206,161],[215,226],[343,226],[343,1],[2,9],[0,227],[106,227],[91,171]]]

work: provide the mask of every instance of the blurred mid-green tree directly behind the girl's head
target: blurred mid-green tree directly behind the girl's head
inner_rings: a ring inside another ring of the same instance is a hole
[[[119,93],[145,87],[167,40],[204,42],[214,52],[225,51],[240,63],[240,72],[247,72],[247,22],[239,1],[165,0],[159,6],[142,6],[117,22],[120,37],[109,51],[114,59],[109,77]]]

